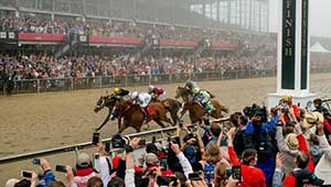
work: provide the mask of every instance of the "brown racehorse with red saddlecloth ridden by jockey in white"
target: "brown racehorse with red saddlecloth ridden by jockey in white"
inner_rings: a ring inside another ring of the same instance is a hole
[[[146,123],[153,120],[161,128],[166,128],[162,121],[171,123],[170,119],[167,117],[167,111],[162,103],[160,102],[151,102],[149,107],[152,110],[152,113],[149,116]],[[131,101],[116,100],[115,102],[115,111],[119,117],[124,118],[124,123],[119,122],[118,133],[121,133],[129,127],[132,127],[137,132],[141,131],[141,127],[145,123],[145,113],[141,111],[141,108],[138,105],[132,105]]]

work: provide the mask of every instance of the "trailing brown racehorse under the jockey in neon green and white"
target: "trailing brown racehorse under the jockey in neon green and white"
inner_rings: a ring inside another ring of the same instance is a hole
[[[190,91],[186,88],[178,87],[175,91],[175,98],[181,97],[184,101],[183,110],[181,114],[183,116],[186,110],[190,112],[190,119],[192,123],[201,122],[204,120],[204,116],[206,110],[203,106],[199,102],[190,101]],[[212,111],[211,117],[218,119],[223,118],[222,112],[227,113],[228,109],[223,107],[216,99],[211,99],[212,105],[214,106],[215,110]]]

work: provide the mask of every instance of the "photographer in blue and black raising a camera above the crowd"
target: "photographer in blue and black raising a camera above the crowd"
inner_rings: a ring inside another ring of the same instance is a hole
[[[245,108],[244,112],[249,117],[244,134],[245,148],[257,151],[258,161],[256,166],[264,172],[266,183],[269,184],[273,180],[275,155],[277,152],[274,123],[268,122],[265,107],[260,108],[253,105],[248,110]]]

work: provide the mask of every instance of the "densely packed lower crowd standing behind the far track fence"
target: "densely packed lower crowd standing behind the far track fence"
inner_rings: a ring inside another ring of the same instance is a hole
[[[222,57],[196,56],[189,59],[179,57],[146,56],[140,61],[125,57],[63,57],[31,55],[9,57],[0,55],[1,69],[14,75],[15,80],[38,78],[96,77],[126,75],[193,74],[227,70],[275,70],[273,56],[227,55]]]

